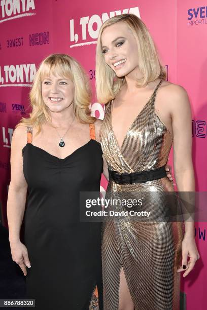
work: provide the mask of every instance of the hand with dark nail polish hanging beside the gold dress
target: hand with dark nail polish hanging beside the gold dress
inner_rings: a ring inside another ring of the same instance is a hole
[[[188,261],[188,257],[190,258]],[[180,273],[185,271],[183,277],[185,278],[193,269],[195,262],[200,258],[198,253],[195,238],[184,236],[182,242],[182,267],[180,267],[177,272]]]

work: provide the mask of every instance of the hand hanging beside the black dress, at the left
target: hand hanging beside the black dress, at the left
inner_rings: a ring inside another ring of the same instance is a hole
[[[21,243],[20,240],[15,242],[10,241],[10,248],[11,248],[12,260],[15,261],[20,266],[24,276],[26,276],[27,275],[26,266],[28,268],[31,267],[27,248],[23,243]]]

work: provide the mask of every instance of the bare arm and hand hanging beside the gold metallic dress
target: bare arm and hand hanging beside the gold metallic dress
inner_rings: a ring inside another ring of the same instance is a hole
[[[182,198],[190,206],[189,192],[195,191],[194,171],[192,164],[192,124],[191,124],[191,109],[186,91],[177,85],[173,85],[170,93],[171,100],[171,119],[172,131],[174,134],[174,171],[178,187]],[[182,111],[182,113],[181,113]],[[183,209],[184,213],[189,210]],[[185,214],[186,215],[186,214]],[[188,214],[189,215],[189,214]],[[185,270],[184,277],[187,276],[193,269],[196,260],[199,258],[198,250],[194,239],[194,220],[186,219],[185,235],[182,242],[182,265],[178,272]],[[187,258],[190,261],[187,264]]]

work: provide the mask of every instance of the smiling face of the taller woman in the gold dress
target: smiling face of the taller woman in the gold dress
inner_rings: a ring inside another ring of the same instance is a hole
[[[106,63],[118,77],[138,68],[138,50],[135,37],[124,22],[106,27],[101,35],[102,53]]]

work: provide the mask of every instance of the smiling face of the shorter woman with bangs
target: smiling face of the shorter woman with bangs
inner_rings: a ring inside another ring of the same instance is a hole
[[[61,112],[74,102],[75,86],[72,80],[49,75],[42,81],[42,97],[51,112]]]

